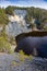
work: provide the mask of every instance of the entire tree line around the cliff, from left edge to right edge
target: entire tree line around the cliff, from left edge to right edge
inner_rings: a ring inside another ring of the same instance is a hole
[[[0,24],[8,24],[9,19],[7,14],[14,15],[13,11],[17,10],[26,10],[26,16],[25,21],[28,23],[31,26],[33,26],[36,23],[36,26],[38,28],[45,28],[45,23],[47,23],[47,10],[45,9],[39,9],[39,8],[22,8],[22,7],[12,7],[9,5],[5,9],[0,8]],[[35,19],[35,23],[32,24],[32,19]],[[34,25],[35,26],[35,25]],[[47,27],[46,27],[47,28]]]

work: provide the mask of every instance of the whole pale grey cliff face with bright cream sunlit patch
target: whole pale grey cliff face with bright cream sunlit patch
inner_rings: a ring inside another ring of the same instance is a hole
[[[14,16],[9,16],[9,24],[5,26],[5,33],[9,36],[15,37],[16,35],[27,32],[27,25],[24,20],[26,15],[25,10],[15,10]],[[31,31],[31,29],[30,29]]]

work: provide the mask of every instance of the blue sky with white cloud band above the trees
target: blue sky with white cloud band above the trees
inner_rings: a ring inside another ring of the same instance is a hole
[[[0,7],[5,8],[8,5],[47,9],[47,0],[0,0]]]

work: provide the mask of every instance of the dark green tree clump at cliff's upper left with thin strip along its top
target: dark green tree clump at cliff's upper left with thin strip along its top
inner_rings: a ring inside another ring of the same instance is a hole
[[[7,13],[7,14],[10,14],[10,15],[14,15],[13,12],[14,12],[15,9],[19,9],[19,10],[26,10],[26,8],[9,5],[9,7],[5,8],[5,13]]]

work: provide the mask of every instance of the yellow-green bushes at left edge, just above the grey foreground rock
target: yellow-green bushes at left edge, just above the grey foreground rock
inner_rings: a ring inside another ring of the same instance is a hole
[[[11,52],[10,44],[7,42],[7,38],[0,36],[0,52]]]

